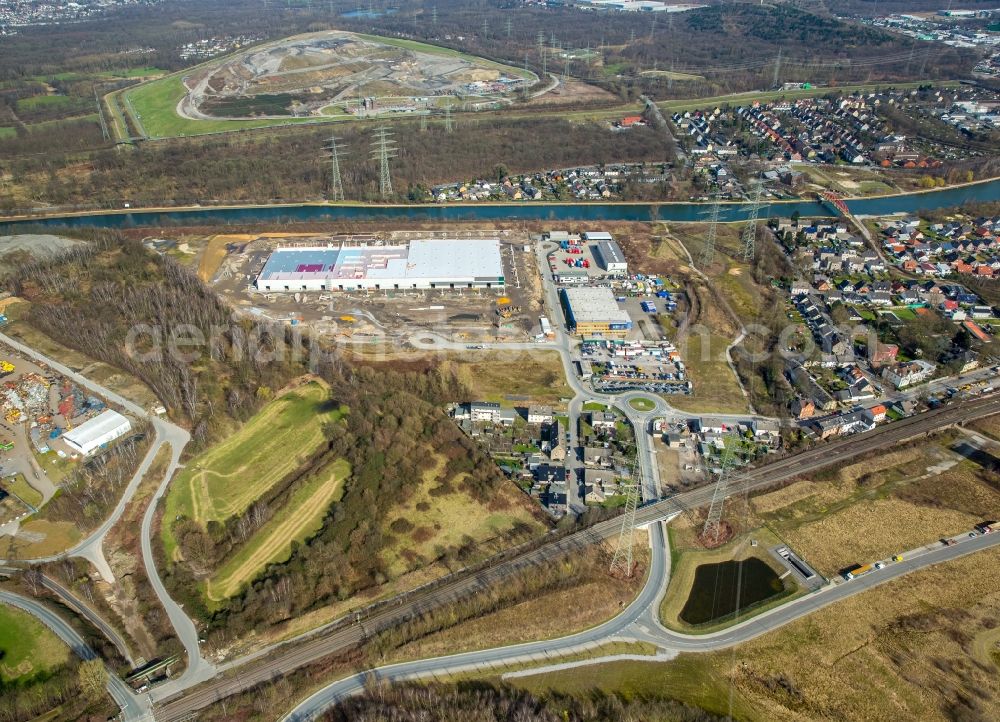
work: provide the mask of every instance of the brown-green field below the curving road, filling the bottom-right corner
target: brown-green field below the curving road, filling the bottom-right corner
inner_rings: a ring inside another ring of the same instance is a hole
[[[1000,550],[907,575],[710,654],[507,680],[530,692],[676,699],[733,719],[997,719]],[[850,694],[845,694],[850,690]]]

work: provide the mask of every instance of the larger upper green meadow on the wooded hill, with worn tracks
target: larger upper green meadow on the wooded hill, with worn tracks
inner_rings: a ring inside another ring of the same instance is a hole
[[[327,404],[317,381],[286,392],[261,409],[239,431],[191,459],[167,495],[165,519],[185,516],[201,524],[241,514],[323,443],[323,424],[346,409]],[[167,558],[176,541],[163,524]]]

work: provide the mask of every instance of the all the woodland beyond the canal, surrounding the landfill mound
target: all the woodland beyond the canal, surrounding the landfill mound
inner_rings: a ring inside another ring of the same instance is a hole
[[[775,79],[833,85],[962,77],[969,51],[918,43],[844,22],[810,5],[726,3],[650,18],[569,7],[442,0],[376,17],[347,17],[353,0],[291,6],[180,0],[134,6],[100,22],[24,28],[0,44],[0,211],[46,206],[121,207],[213,201],[322,198],[321,148],[330,129],[270,129],[140,145],[113,145],[113,112],[99,98],[143,78],[190,66],[184,43],[211,37],[262,40],[336,27],[416,38],[526,64],[611,91],[620,100],[719,95]],[[781,63],[778,66],[778,54]],[[611,96],[613,97],[613,96]],[[445,136],[399,124],[394,200],[425,197],[435,183],[584,163],[672,157],[655,133],[615,136],[600,123],[553,115],[574,107],[521,103],[489,120],[459,115]],[[607,104],[605,102],[605,104]],[[591,107],[588,101],[587,106]],[[578,107],[578,106],[577,106]],[[526,119],[527,114],[534,119]],[[336,126],[345,145],[348,197],[376,197],[370,138]],[[558,139],[558,142],[555,140]]]

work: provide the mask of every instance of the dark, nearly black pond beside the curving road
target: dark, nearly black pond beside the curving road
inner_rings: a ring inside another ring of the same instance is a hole
[[[707,624],[720,620],[739,609],[757,604],[784,591],[781,579],[761,559],[702,564],[694,572],[694,584],[688,595],[681,621],[686,624]]]

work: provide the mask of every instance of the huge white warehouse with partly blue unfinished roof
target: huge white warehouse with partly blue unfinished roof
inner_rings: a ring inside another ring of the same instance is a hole
[[[275,250],[259,291],[377,291],[503,288],[497,239],[416,240],[399,245],[337,245]]]

